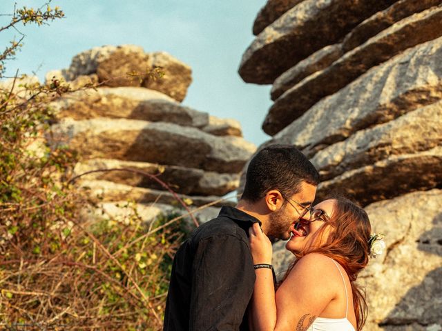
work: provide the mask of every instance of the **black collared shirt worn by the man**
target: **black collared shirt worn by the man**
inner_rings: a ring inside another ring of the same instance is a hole
[[[164,330],[248,330],[256,278],[248,237],[256,222],[224,206],[184,241],[173,259]]]

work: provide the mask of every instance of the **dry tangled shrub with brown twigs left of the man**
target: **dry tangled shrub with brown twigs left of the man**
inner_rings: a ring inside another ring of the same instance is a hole
[[[60,88],[0,89],[0,329],[160,330],[180,217],[81,219],[75,153],[43,139]]]

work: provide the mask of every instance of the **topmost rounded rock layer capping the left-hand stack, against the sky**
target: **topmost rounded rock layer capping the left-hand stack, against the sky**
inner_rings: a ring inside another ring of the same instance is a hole
[[[68,69],[52,70],[52,78],[75,81],[97,77],[102,86],[143,86],[182,101],[186,97],[191,68],[166,52],[145,53],[140,46],[103,46],[77,54]]]

